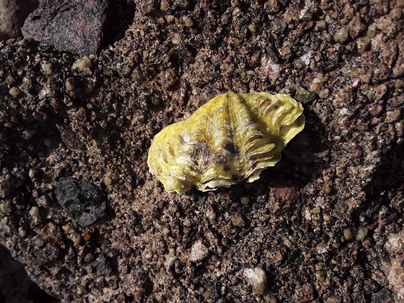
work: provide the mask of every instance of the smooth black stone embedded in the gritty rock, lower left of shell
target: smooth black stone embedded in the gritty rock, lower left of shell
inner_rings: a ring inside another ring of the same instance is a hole
[[[90,225],[105,215],[105,197],[95,185],[63,177],[55,183],[54,189],[57,202],[81,226]]]

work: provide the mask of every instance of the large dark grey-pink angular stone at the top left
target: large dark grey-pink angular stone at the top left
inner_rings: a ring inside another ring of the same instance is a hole
[[[22,27],[24,38],[80,55],[97,53],[108,0],[40,0]]]

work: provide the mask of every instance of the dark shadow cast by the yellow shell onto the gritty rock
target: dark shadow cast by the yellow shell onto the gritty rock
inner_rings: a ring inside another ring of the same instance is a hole
[[[253,182],[240,182],[230,188],[219,188],[208,193],[195,188],[189,191],[197,206],[203,206],[209,195],[220,200],[223,196],[231,201],[240,201],[248,197],[252,201],[261,201],[271,188],[299,191],[314,181],[329,167],[328,157],[332,143],[328,141],[326,128],[318,115],[311,109],[305,109],[305,128],[293,138],[282,151],[280,161],[273,167],[263,170],[261,177]],[[262,200],[263,201],[263,200]]]

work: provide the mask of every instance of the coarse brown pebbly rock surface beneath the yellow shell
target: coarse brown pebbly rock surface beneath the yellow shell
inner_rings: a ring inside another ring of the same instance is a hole
[[[90,60],[0,42],[0,241],[32,280],[66,302],[403,301],[402,1],[133,3]],[[169,194],[148,172],[154,135],[214,95],[297,85],[323,93],[258,181]],[[105,217],[80,226],[62,177],[101,188]]]

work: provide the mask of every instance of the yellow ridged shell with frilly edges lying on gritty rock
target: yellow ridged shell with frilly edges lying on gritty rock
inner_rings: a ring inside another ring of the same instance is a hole
[[[183,193],[259,179],[305,124],[300,102],[288,95],[225,93],[187,120],[163,128],[147,165],[166,191]]]

